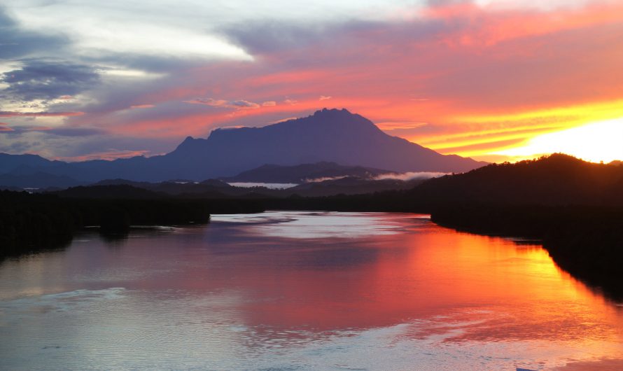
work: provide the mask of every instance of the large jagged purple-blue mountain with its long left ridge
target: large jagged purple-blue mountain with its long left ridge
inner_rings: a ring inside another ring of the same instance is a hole
[[[0,159],[0,162],[3,160]],[[13,161],[13,160],[12,160]],[[113,161],[41,162],[30,158],[29,174],[44,171],[95,182],[213,179],[234,176],[266,164],[295,166],[337,162],[392,172],[466,172],[486,165],[457,155],[441,155],[405,139],[391,137],[372,121],[346,109],[323,109],[306,118],[265,127],[217,129],[207,139],[186,138],[166,155]],[[11,164],[4,166],[10,168]],[[13,166],[15,169],[17,166]]]

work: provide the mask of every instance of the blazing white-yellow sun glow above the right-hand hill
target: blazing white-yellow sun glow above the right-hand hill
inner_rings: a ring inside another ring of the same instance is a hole
[[[623,118],[616,118],[542,134],[529,139],[524,146],[494,154],[533,158],[547,153],[566,153],[590,162],[611,162],[623,160],[622,138]]]

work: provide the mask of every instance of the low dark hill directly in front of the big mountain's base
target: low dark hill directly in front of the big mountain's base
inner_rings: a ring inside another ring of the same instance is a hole
[[[295,166],[262,165],[255,169],[241,172],[237,176],[221,178],[229,183],[306,183],[316,179],[331,179],[353,176],[372,179],[381,174],[390,174],[388,170],[372,167],[343,166],[335,162],[316,162]]]

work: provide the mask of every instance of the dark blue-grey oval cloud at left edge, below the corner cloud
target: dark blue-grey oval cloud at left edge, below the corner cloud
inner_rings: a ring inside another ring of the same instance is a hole
[[[9,85],[3,93],[13,99],[66,99],[99,83],[99,73],[85,64],[31,60],[21,69],[3,73],[0,82]]]

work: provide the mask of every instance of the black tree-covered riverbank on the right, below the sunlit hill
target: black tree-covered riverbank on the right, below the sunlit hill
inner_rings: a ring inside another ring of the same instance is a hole
[[[463,205],[435,209],[430,218],[455,230],[540,239],[559,267],[623,298],[622,207]]]

